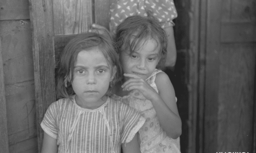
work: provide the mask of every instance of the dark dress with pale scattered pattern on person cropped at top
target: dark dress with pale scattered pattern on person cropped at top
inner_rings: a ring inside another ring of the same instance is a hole
[[[110,6],[109,28],[115,33],[116,27],[132,15],[152,14],[161,23],[162,28],[174,26],[177,11],[173,0],[116,0]]]

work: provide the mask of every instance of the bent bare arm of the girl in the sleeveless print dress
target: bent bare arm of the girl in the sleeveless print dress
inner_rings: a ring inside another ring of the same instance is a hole
[[[167,74],[156,74],[156,86],[160,96],[155,96],[151,102],[156,110],[160,124],[173,139],[181,135],[181,119],[176,104],[174,87]]]

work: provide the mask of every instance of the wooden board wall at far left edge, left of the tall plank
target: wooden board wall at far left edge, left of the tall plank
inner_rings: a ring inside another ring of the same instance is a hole
[[[7,112],[4,115],[7,117],[10,153],[37,152],[31,36],[28,0],[1,0],[0,50],[2,51],[2,65],[0,67],[2,66],[2,72],[0,73],[4,78],[4,98]],[[3,107],[0,108],[1,113],[2,109]],[[2,117],[4,116],[1,115]],[[7,150],[0,152],[7,153]]]

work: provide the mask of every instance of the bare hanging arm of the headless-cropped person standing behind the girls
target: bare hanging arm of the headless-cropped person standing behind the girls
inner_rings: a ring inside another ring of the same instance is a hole
[[[168,38],[168,46],[167,46],[167,58],[165,62],[166,67],[170,67],[171,70],[174,70],[175,63],[177,59],[177,50],[174,38],[174,28],[173,26],[169,26],[164,29]]]

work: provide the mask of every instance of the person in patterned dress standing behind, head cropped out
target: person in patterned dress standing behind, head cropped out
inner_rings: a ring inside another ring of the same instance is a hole
[[[156,17],[168,37],[167,61],[165,66],[174,70],[176,63],[176,46],[174,39],[174,20],[178,15],[173,0],[115,0],[110,6],[110,31],[115,33],[116,27],[127,17],[148,15]]]

